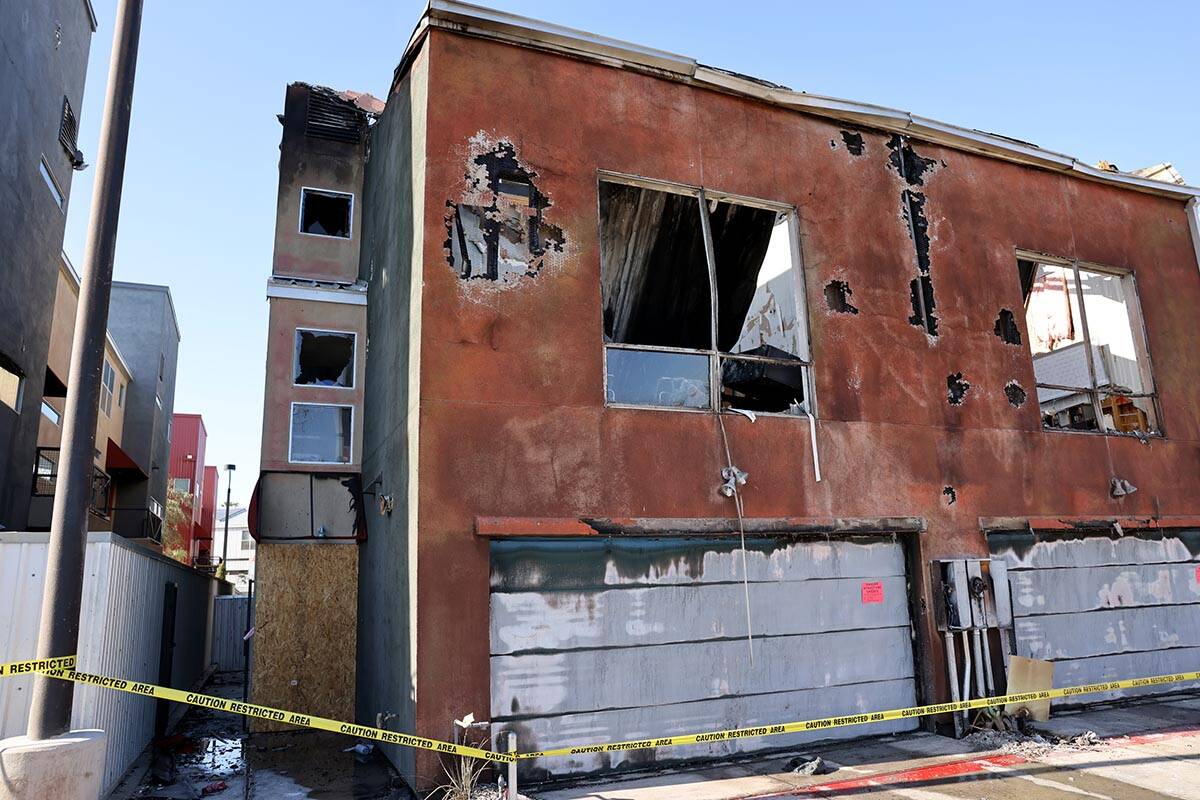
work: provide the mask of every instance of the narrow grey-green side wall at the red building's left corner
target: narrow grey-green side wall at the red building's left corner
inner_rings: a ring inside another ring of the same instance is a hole
[[[384,727],[404,732],[416,724],[416,552],[412,545],[416,504],[409,497],[415,491],[410,476],[416,468],[418,415],[409,398],[415,396],[419,375],[420,290],[414,290],[413,279],[420,279],[424,249],[419,187],[425,169],[427,76],[427,60],[421,55],[388,98],[371,133],[360,275],[370,282],[371,357],[362,404],[362,485],[368,494],[367,539],[359,561],[358,718],[374,724],[377,714],[391,714]],[[413,750],[383,747],[406,780],[415,783]]]

